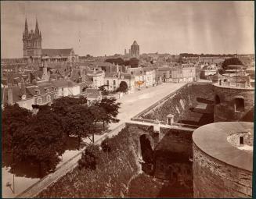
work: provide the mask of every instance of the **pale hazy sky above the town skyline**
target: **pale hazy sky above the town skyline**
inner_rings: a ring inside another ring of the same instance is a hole
[[[2,58],[23,57],[25,18],[42,48],[78,55],[254,53],[254,2],[1,2]],[[79,41],[80,35],[80,41]]]

